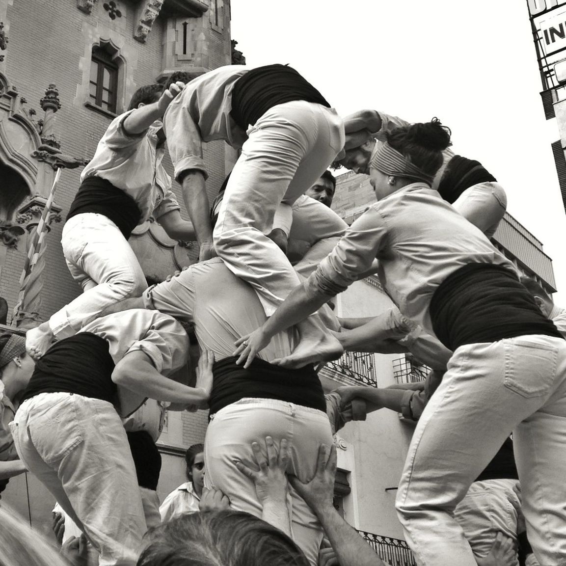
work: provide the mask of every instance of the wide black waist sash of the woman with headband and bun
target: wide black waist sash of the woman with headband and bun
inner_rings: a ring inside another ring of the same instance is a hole
[[[432,328],[450,350],[529,334],[562,337],[516,275],[499,265],[457,269],[436,289],[429,308]]]

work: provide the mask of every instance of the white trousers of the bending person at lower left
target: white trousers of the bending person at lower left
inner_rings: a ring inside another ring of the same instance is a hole
[[[100,552],[101,566],[135,566],[147,527],[122,421],[112,404],[40,393],[10,423],[25,467]]]

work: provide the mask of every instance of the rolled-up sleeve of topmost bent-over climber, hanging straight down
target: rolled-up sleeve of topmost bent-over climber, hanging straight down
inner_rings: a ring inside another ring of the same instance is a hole
[[[163,126],[167,136],[169,156],[175,168],[175,180],[183,171],[197,169],[208,177],[203,160],[203,144],[199,127],[183,104],[183,97],[174,98],[165,111]]]

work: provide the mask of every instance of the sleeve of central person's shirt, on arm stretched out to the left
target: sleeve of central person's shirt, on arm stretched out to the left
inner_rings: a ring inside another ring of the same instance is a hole
[[[194,321],[195,285],[191,267],[173,277],[144,291],[145,308],[163,312],[175,318]]]

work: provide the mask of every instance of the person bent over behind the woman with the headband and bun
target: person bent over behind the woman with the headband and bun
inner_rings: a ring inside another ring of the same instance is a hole
[[[355,173],[370,173],[370,161],[387,132],[409,122],[376,110],[359,110],[344,118],[345,157],[337,162]],[[443,162],[432,188],[488,238],[495,234],[507,208],[507,195],[495,177],[479,161],[443,151]]]

